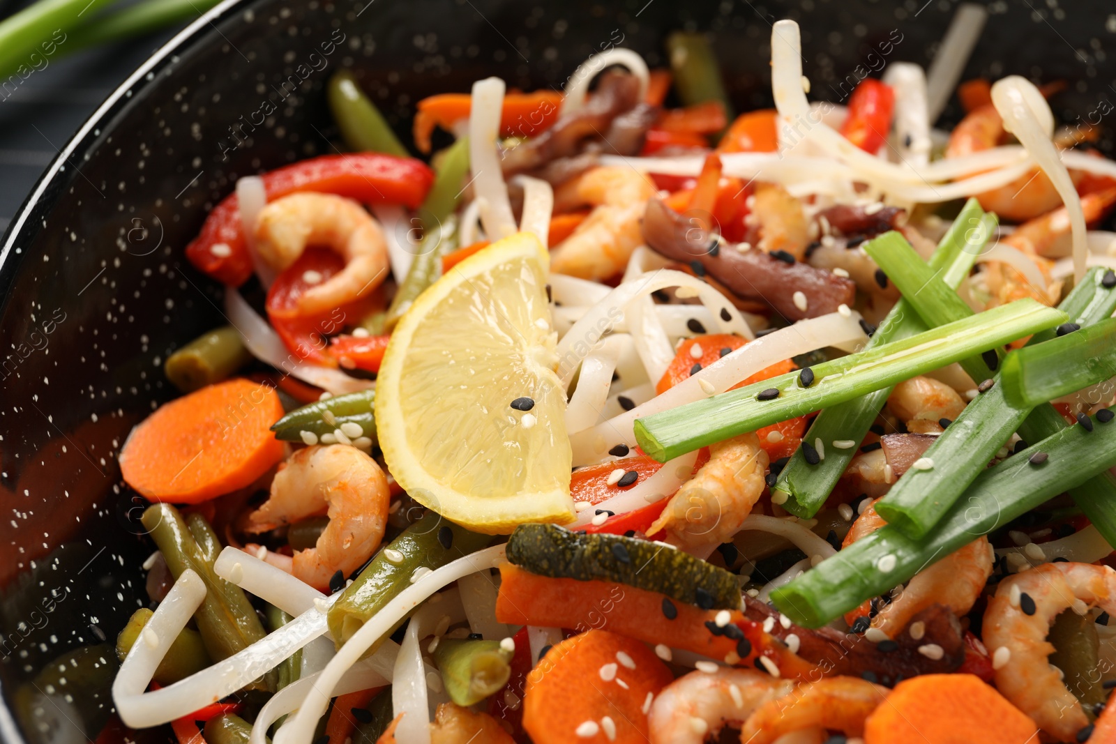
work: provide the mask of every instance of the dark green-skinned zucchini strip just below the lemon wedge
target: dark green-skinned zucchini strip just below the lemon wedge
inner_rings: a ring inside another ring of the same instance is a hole
[[[662,543],[520,524],[507,550],[510,562],[551,579],[616,581],[702,609],[740,609],[735,574]]]

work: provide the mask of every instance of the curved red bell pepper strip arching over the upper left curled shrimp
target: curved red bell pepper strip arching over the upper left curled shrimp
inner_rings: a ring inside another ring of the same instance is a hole
[[[365,204],[403,204],[416,209],[426,197],[434,173],[422,161],[383,153],[321,155],[264,173],[268,201],[299,191],[347,196]],[[225,248],[215,247],[224,245]],[[252,276],[237,194],[210,211],[186,258],[199,271],[232,287]]]

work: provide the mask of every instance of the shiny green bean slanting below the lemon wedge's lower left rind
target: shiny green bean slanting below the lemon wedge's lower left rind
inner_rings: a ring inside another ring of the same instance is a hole
[[[411,584],[419,569],[436,569],[492,542],[427,511],[382,549],[329,608],[329,632],[338,648],[365,622]],[[446,548],[446,544],[450,547]]]

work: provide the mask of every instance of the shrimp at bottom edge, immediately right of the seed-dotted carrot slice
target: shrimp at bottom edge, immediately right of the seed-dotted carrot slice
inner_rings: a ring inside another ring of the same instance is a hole
[[[742,722],[757,706],[795,688],[754,669],[691,671],[664,687],[651,705],[651,744],[701,744],[724,724]]]

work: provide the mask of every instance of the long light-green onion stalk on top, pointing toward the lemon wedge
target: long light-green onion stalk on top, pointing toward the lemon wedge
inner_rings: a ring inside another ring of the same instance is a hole
[[[1065,319],[1066,313],[1031,299],[1010,302],[906,339],[817,365],[814,367],[817,381],[808,388],[799,386],[797,373],[788,373],[637,418],[636,441],[645,453],[658,462],[666,462],[738,434],[895,385],[1056,326]]]

